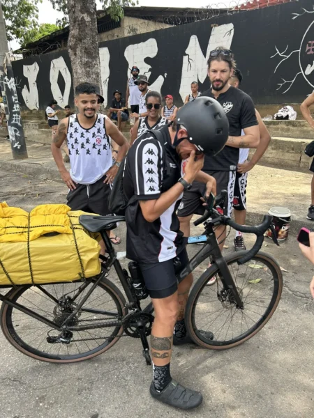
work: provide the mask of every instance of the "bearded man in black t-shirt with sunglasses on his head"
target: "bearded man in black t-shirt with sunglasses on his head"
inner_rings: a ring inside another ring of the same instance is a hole
[[[229,84],[230,77],[236,68],[230,49],[218,47],[211,51],[207,66],[211,89],[202,95],[214,98],[222,105],[230,124],[230,131],[223,151],[217,156],[205,157],[204,171],[216,178],[217,193],[223,189],[227,190],[225,210],[227,215],[231,216],[239,148],[257,148],[260,143],[260,132],[253,101],[239,88],[234,88]],[[243,136],[241,136],[241,130],[244,130]],[[211,141],[210,135],[208,140]],[[200,201],[203,194],[204,187],[197,182],[184,194],[178,215],[181,231],[184,231],[185,236],[190,235],[190,219],[193,214],[202,215],[204,212]],[[220,226],[216,229],[216,235],[220,236],[221,247],[223,247],[225,227]]]

